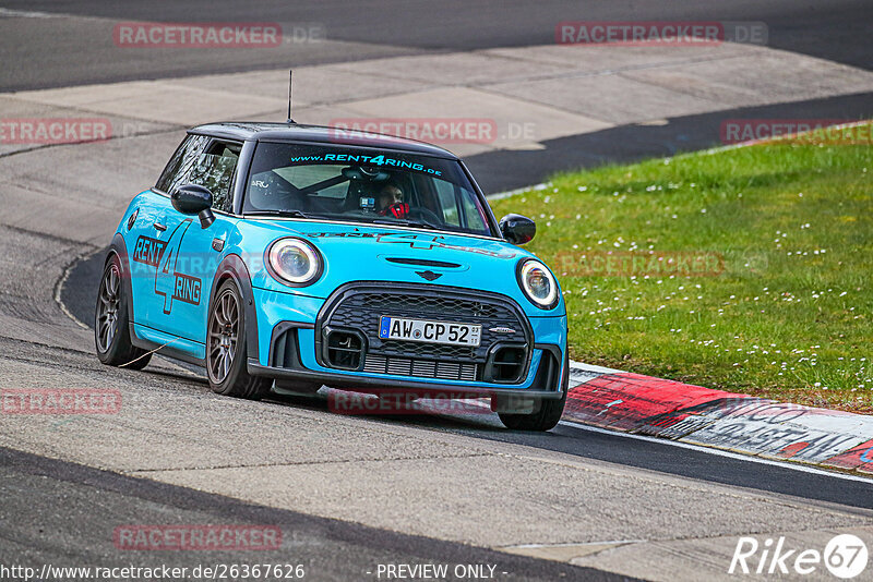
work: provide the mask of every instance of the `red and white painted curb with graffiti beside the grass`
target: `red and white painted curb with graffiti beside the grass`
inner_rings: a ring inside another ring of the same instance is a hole
[[[873,474],[873,416],[571,363],[564,421]]]

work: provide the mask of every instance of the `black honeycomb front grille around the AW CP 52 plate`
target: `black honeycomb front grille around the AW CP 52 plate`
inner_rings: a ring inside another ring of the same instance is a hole
[[[480,325],[481,341],[478,347],[470,348],[383,340],[379,337],[382,316]],[[349,283],[327,300],[315,331],[322,363],[328,367],[333,366],[324,350],[325,337],[335,331],[356,331],[366,338],[364,372],[465,381],[491,381],[490,371],[497,371],[500,365],[490,363],[500,345],[518,350],[522,365],[516,369],[521,376],[527,368],[533,347],[527,319],[509,298],[433,284]],[[507,369],[493,381],[521,381],[510,380],[511,375]]]

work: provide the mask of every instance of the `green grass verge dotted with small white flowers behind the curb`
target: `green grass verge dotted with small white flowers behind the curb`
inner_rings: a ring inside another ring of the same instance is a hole
[[[537,220],[574,359],[873,413],[870,145],[609,166],[492,206]]]

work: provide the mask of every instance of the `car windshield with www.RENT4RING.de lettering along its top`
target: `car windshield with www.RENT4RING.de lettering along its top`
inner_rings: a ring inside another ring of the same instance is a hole
[[[387,149],[262,142],[243,213],[494,235],[461,163]]]

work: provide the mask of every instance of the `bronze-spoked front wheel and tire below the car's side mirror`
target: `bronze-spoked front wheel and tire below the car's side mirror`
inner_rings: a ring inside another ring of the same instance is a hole
[[[249,374],[244,305],[231,279],[222,283],[206,323],[206,375],[215,393],[260,400],[273,380]]]

